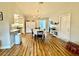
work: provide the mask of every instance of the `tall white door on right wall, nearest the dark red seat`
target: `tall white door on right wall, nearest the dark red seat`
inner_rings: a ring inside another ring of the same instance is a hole
[[[60,18],[60,37],[65,40],[70,40],[70,15],[63,15]]]

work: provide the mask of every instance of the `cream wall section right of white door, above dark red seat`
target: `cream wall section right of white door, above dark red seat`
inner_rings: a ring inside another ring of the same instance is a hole
[[[78,12],[72,13],[70,41],[79,44],[79,13]]]

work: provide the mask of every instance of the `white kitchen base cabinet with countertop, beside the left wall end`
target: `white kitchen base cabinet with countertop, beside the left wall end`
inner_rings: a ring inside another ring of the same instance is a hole
[[[20,44],[21,43],[21,33],[20,29],[12,29],[11,31],[11,45]]]

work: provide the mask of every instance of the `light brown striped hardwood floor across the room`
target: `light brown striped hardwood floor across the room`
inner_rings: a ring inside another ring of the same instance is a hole
[[[45,41],[35,40],[31,34],[26,34],[22,35],[21,45],[0,50],[0,56],[77,56],[67,51],[65,44],[49,34]]]

